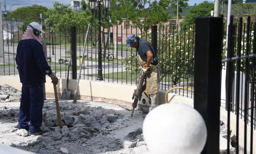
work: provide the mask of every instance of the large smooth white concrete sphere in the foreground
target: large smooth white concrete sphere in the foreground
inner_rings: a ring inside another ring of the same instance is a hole
[[[182,104],[163,104],[148,113],[143,135],[150,153],[200,154],[207,130],[200,113]]]

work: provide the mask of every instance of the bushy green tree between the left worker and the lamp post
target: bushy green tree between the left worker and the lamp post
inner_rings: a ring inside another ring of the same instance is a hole
[[[59,2],[53,2],[53,9],[47,11],[47,21],[55,26],[55,32],[68,33],[71,26],[88,26],[90,15],[88,12],[77,12],[68,7],[68,5]],[[70,41],[70,35],[66,35]]]

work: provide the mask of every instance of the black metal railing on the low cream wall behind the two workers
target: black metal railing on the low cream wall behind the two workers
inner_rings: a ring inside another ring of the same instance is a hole
[[[4,58],[1,58],[0,75],[17,75],[15,55],[18,41],[22,38],[25,27],[17,27],[18,31],[10,33],[10,25],[5,25],[7,29],[3,32],[4,38]],[[14,29],[12,27],[12,29]],[[71,73],[77,74],[80,63],[83,63],[81,79],[97,80],[98,55],[97,55],[97,29],[90,28],[86,42],[86,51],[84,62],[81,62],[85,34],[87,27],[77,27],[75,33],[76,56],[72,57],[77,61],[77,66],[72,66]],[[48,63],[60,78],[67,78],[68,61],[71,54],[71,29],[49,27],[43,29],[43,34],[47,43]],[[152,35],[151,29],[146,31],[138,27],[118,26],[119,33],[118,44],[114,42],[116,31],[114,27],[101,29],[102,31],[102,77],[103,82],[112,82],[118,84],[137,85],[139,77],[139,63],[136,59],[136,50],[126,49],[125,39],[127,35],[133,33],[140,38],[152,40],[157,44],[157,57],[160,61],[161,76],[159,88],[168,90],[172,87],[187,87],[193,89],[194,83],[194,26],[181,26],[179,29],[175,25],[157,26],[156,35]],[[6,39],[7,38],[7,39]],[[12,39],[12,41],[11,41]],[[9,41],[8,41],[9,40]],[[115,45],[117,51],[115,54]],[[74,53],[73,53],[74,54]],[[116,55],[116,57],[114,56]],[[193,97],[191,91],[177,90],[174,92],[183,96]]]

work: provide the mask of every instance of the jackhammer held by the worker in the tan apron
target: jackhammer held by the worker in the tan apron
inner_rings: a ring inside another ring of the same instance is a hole
[[[145,77],[146,77],[146,73],[143,72],[143,67],[141,68],[140,70],[140,75],[139,75],[139,82],[138,82],[138,85],[137,85],[137,89],[134,90],[134,93],[133,93],[133,97],[132,99],[134,99],[133,101],[133,110],[132,110],[132,113],[131,113],[131,117],[133,116],[133,112],[135,110],[135,108],[137,107],[137,104],[138,104],[138,101],[140,101],[141,99],[141,96],[142,96],[142,85],[143,85],[143,82],[145,80]]]

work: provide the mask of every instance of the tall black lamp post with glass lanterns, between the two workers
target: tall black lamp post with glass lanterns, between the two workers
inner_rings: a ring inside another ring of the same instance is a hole
[[[111,0],[89,0],[90,6],[91,6],[91,11],[93,17],[97,16],[97,11],[98,11],[98,77],[97,80],[103,80],[102,78],[102,59],[101,59],[101,1],[103,1],[104,8],[102,9],[102,15],[104,17],[107,16],[107,11],[110,6],[110,1]],[[98,2],[98,10],[95,8],[96,7],[96,2]]]

